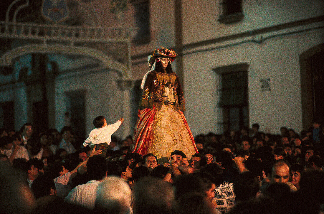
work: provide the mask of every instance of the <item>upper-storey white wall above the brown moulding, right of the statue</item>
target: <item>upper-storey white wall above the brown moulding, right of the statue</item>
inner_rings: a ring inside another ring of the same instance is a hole
[[[324,2],[318,0],[243,0],[244,18],[240,23],[224,25],[219,18],[219,1],[182,1],[183,43],[232,35],[287,22],[323,15]]]

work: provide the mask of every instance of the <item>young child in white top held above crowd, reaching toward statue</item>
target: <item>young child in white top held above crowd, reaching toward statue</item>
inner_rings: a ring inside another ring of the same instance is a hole
[[[116,123],[107,125],[105,117],[98,116],[94,118],[93,125],[96,128],[90,132],[89,137],[84,141],[83,146],[86,147],[90,143],[90,148],[93,148],[94,145],[96,145],[96,150],[101,149],[101,156],[106,158],[106,152],[111,141],[111,135],[117,131],[123,121],[124,118],[120,118]]]

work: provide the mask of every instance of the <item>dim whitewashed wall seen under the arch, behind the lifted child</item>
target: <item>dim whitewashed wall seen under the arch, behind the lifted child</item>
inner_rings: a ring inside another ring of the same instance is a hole
[[[56,80],[56,127],[58,130],[64,126],[64,113],[67,107],[65,92],[86,90],[86,133],[90,133],[93,119],[99,115],[106,118],[108,124],[112,124],[122,117],[122,91],[117,87],[116,80],[120,74],[114,71],[90,71],[84,75],[75,72],[71,76],[58,76]],[[121,137],[122,126],[115,132]]]

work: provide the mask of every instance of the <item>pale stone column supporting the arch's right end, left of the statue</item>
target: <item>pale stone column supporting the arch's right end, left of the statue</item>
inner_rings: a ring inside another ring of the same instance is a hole
[[[118,87],[123,91],[123,109],[122,116],[125,119],[125,124],[122,128],[122,139],[125,139],[128,135],[133,134],[133,127],[131,127],[131,90],[134,82],[129,79],[117,80]]]

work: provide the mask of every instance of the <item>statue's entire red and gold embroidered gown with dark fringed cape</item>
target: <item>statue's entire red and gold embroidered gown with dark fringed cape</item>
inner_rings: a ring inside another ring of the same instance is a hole
[[[132,149],[141,155],[169,157],[174,150],[188,158],[198,153],[182,111],[185,100],[175,73],[151,71],[145,81],[138,109]]]

